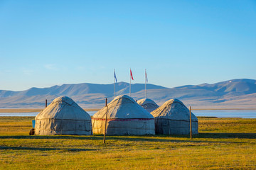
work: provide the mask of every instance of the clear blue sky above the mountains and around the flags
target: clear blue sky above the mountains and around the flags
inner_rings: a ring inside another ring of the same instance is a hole
[[[256,79],[256,1],[0,0],[0,90]]]

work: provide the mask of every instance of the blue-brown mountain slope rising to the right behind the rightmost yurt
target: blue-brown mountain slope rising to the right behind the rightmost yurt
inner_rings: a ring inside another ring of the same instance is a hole
[[[253,79],[156,89],[147,91],[147,94],[160,105],[170,98],[178,98],[197,108],[256,108],[256,80]],[[141,91],[134,97],[143,98],[143,95]]]

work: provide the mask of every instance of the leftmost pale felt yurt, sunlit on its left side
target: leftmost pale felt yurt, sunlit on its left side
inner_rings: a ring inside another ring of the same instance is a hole
[[[92,135],[90,115],[66,96],[55,98],[35,120],[36,135]]]

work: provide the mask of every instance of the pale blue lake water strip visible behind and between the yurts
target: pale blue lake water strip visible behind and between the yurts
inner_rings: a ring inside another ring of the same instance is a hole
[[[228,111],[192,111],[196,116],[210,116],[217,118],[256,118],[256,111],[236,111],[236,110],[228,110]],[[95,111],[88,111],[90,115],[94,115]],[[36,116],[38,112],[33,113],[0,113],[0,116]]]

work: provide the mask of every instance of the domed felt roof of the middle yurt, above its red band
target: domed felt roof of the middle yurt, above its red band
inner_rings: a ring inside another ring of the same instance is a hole
[[[107,109],[107,119],[154,118],[142,106],[139,106],[133,98],[127,95],[117,96],[107,104],[107,108],[102,108],[92,118],[105,118]]]

